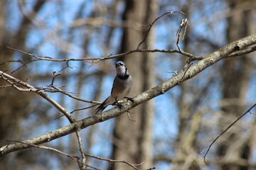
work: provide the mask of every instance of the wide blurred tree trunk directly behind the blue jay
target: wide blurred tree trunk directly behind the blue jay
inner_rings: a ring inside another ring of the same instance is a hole
[[[131,22],[130,27],[137,25],[143,26],[154,21],[158,4],[156,0],[127,0],[126,9],[124,11],[124,21]],[[124,28],[122,37],[121,52],[127,52],[137,48],[146,35],[147,28]],[[151,29],[146,41],[141,46],[142,49],[154,47],[154,29]],[[123,60],[127,64],[129,72],[134,78],[134,84],[129,96],[134,96],[142,91],[148,90],[154,86],[155,70],[154,57],[149,53],[134,53]],[[153,145],[153,118],[154,118],[154,101],[148,101],[138,106],[130,114],[131,118],[136,120],[132,122],[127,114],[119,116],[116,119],[114,127],[114,146],[113,159],[126,160],[132,164],[142,165],[142,169],[150,168],[152,165],[152,145]],[[112,169],[129,169],[124,164],[114,164]]]

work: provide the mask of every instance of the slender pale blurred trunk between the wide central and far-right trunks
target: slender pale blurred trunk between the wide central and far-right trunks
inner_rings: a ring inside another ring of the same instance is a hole
[[[182,10],[186,13],[186,18],[190,18],[191,13],[193,13],[193,8],[191,8],[191,0],[188,0],[186,5],[183,6]],[[190,28],[186,30],[186,38],[183,40],[183,49],[184,51],[193,51],[190,44],[193,43],[190,35]],[[185,63],[188,59],[186,57],[182,58],[182,63]],[[178,97],[178,135],[176,138],[176,147],[174,149],[175,157],[170,166],[170,169],[200,169],[198,162],[188,161],[191,157],[191,152],[196,150],[196,136],[199,132],[199,125],[201,123],[201,113],[199,111],[194,111],[193,108],[198,106],[200,103],[201,96],[197,95],[202,94],[203,88],[201,91],[192,91],[191,81],[185,81],[180,85],[181,96]],[[193,100],[189,100],[189,96],[193,94]],[[194,158],[196,159],[196,157]]]

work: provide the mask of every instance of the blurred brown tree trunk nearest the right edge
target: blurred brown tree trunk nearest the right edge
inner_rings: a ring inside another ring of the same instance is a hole
[[[231,16],[228,18],[228,42],[238,40],[252,33],[250,32],[250,24],[253,20],[252,15],[250,15],[252,10],[247,11],[247,9],[241,8],[244,2],[245,1],[242,0],[227,1],[230,11],[232,11]],[[253,5],[255,1],[250,0],[247,1],[247,3]],[[246,95],[252,72],[251,63],[252,57],[246,55],[238,57],[235,60],[225,60],[223,64],[223,71],[221,72],[223,79],[223,100],[230,101],[228,105],[222,108],[223,121],[220,123],[220,127],[223,129],[245,111]],[[225,141],[218,146],[218,156],[223,159],[228,159],[231,162],[244,159],[250,164],[249,158],[252,156],[250,141],[249,139],[247,141],[245,139],[245,142],[235,146],[235,142],[242,137],[243,133],[240,122],[235,126],[238,126],[240,130],[233,130],[229,137],[226,137]],[[223,164],[220,166],[220,169],[242,170],[249,169],[249,166]]]

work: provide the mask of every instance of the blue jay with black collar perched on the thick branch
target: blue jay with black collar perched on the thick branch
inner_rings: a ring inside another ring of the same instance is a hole
[[[117,106],[119,106],[118,101],[126,97],[132,89],[132,76],[129,74],[124,62],[116,62],[115,67],[117,70],[117,76],[114,78],[111,94],[105,101],[103,101],[103,103],[100,104],[99,107],[95,109],[95,111],[92,112],[92,115],[102,113],[108,105],[117,103]]]

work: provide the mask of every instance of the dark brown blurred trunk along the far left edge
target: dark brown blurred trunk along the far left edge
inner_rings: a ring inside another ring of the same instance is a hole
[[[23,16],[21,18],[21,24],[16,30],[16,33],[11,33],[8,28],[8,10],[11,6],[10,1],[0,1],[0,63],[8,60],[14,60],[14,51],[7,49],[5,46],[14,47],[16,49],[25,50],[26,37],[31,26],[31,21],[36,16],[36,13],[41,9],[46,1],[37,1],[33,6],[33,12],[29,18]],[[26,51],[26,50],[25,50]],[[26,61],[27,57],[23,58]],[[2,71],[9,68],[9,64],[4,64],[0,67]],[[24,76],[26,75],[26,76]],[[15,74],[16,77],[21,80],[27,79],[29,76],[27,69],[22,69],[21,72]],[[0,81],[0,85],[6,84],[4,81]],[[9,87],[11,88],[11,87]],[[20,140],[22,137],[21,119],[26,118],[29,114],[28,105],[31,102],[31,98],[34,98],[34,94],[25,94],[20,91],[10,90],[9,88],[2,88],[0,93],[0,145],[6,145],[6,140]],[[31,159],[31,153],[29,157],[25,152],[16,152],[1,158],[1,169],[20,169],[21,162],[23,164],[33,164]],[[19,162],[19,163],[18,163]],[[25,163],[26,162],[26,163]]]

